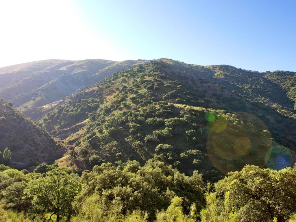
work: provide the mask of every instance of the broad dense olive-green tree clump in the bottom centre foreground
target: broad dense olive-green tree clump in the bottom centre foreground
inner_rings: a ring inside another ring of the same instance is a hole
[[[190,212],[193,204],[197,211],[203,205],[204,183],[197,171],[185,176],[156,159],[148,160],[143,167],[137,161],[128,161],[122,169],[103,163],[84,172],[81,181],[83,190],[73,202],[76,212],[92,194],[99,195],[102,206],[120,206],[123,215],[138,209],[147,213],[150,221],[158,211],[167,209],[175,196],[182,197],[184,214]],[[105,212],[102,210],[107,216]]]

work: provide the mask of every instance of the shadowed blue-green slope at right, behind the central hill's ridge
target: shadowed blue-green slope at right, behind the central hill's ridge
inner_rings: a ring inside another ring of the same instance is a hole
[[[294,89],[295,73],[293,72],[275,71],[259,73],[230,65],[200,66],[166,58],[159,60],[174,66],[178,70],[195,73],[201,78],[215,82],[229,90],[234,90],[247,99],[263,103],[282,115],[296,119],[296,109],[294,108],[296,94]],[[276,75],[275,73],[282,74]],[[284,75],[284,73],[289,74]],[[281,81],[279,81],[279,78],[281,78]],[[283,81],[283,79],[287,79],[287,81]],[[281,84],[279,84],[280,82]],[[292,87],[289,95],[287,95],[287,86],[289,85]]]

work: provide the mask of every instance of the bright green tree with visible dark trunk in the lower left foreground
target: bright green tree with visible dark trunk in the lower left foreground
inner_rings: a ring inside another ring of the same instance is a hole
[[[81,185],[61,169],[46,172],[46,177],[29,183],[26,193],[33,197],[33,210],[36,213],[52,212],[52,215],[67,216],[73,212],[72,202],[80,192]]]

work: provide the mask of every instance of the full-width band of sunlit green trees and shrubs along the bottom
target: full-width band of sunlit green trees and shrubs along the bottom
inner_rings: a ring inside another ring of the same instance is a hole
[[[296,167],[246,165],[222,180],[186,176],[157,158],[102,163],[81,176],[55,165],[0,165],[0,221],[295,221]]]

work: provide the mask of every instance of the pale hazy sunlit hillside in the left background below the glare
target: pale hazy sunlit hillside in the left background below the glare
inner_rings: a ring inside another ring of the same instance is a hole
[[[36,120],[40,118],[36,114],[36,110],[40,110],[37,107],[56,102],[136,63],[139,62],[103,59],[44,60],[4,67],[0,69],[0,76],[6,84],[0,88],[0,98],[12,102],[20,111]]]

